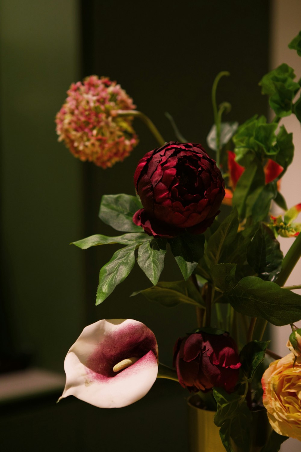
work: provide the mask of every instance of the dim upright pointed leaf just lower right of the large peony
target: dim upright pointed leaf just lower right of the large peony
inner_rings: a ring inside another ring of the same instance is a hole
[[[219,263],[224,247],[232,243],[238,229],[238,214],[236,208],[222,221],[217,231],[208,240],[204,260],[210,269]]]

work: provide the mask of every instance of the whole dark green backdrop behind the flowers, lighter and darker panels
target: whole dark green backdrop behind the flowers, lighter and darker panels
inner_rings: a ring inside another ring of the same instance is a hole
[[[113,234],[97,218],[100,198],[134,194],[137,162],[157,143],[136,120],[139,146],[102,170],[57,142],[54,117],[71,82],[108,75],[167,141],[175,137],[166,111],[188,141],[207,147],[219,71],[231,72],[218,89],[218,102],[232,104],[227,119],[242,122],[266,110],[258,81],[268,71],[269,2],[2,0],[1,34],[1,350],[29,353],[33,365],[62,372],[85,325],[134,318],[153,330],[160,361],[171,364],[177,337],[195,326],[193,308],[129,298],[150,285],[138,266],[94,306],[99,268],[117,247],[69,246]],[[162,279],[181,279],[167,262]],[[174,382],[157,381],[143,400],[120,410],[72,398],[55,405],[56,396],[6,405],[1,450],[109,450],[122,443],[125,451],[182,452],[186,395]]]

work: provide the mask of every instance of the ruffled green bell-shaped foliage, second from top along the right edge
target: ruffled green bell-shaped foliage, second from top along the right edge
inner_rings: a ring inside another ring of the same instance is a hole
[[[283,118],[292,113],[292,100],[300,85],[294,82],[296,77],[292,67],[283,63],[260,80],[262,94],[269,95],[269,104],[274,112]]]

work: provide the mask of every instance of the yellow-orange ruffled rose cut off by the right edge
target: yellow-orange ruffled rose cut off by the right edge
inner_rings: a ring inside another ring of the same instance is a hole
[[[261,383],[272,428],[280,435],[301,441],[301,357],[289,353],[274,361]]]

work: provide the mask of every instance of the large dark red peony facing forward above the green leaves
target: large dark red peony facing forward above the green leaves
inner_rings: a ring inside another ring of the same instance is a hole
[[[139,161],[134,183],[143,209],[133,221],[154,237],[201,234],[225,196],[222,174],[200,144],[170,141]]]

